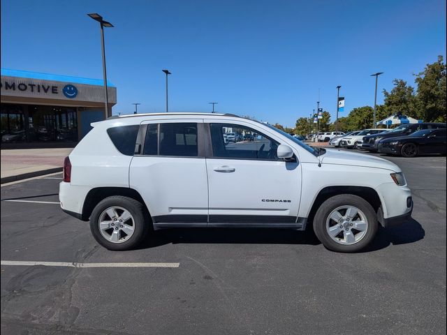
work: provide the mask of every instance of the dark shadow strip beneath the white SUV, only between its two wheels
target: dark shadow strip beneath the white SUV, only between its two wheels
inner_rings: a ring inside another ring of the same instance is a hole
[[[274,228],[173,228],[148,234],[138,249],[165,244],[321,244],[312,231]]]

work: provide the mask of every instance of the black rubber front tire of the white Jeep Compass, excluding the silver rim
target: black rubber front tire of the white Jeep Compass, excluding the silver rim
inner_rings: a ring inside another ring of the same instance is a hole
[[[329,236],[326,229],[326,221],[328,220],[328,216],[332,213],[332,211],[342,206],[353,206],[360,209],[360,211],[365,214],[367,219],[368,225],[365,236],[363,236],[362,239],[355,244],[340,244]],[[365,199],[360,198],[358,195],[352,194],[334,195],[328,200],[325,200],[325,202],[323,202],[323,204],[321,204],[316,211],[313,225],[316,237],[318,237],[323,246],[329,250],[337,251],[339,253],[355,253],[362,250],[362,248],[365,248],[369,243],[371,243],[377,230],[379,229],[376,213],[371,204],[369,204]]]

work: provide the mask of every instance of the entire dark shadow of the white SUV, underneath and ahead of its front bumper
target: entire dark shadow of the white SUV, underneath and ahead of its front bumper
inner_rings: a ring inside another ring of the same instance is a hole
[[[411,218],[403,225],[379,228],[372,244],[360,253],[378,251],[393,245],[409,244],[425,237],[425,230]],[[321,244],[312,227],[305,232],[270,228],[173,228],[156,230],[142,241],[138,249],[155,248],[166,244]]]

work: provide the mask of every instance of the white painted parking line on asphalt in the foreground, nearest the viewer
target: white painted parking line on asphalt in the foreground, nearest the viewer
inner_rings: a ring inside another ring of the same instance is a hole
[[[20,260],[1,260],[0,265],[30,267],[44,265],[45,267],[179,267],[180,263],[78,263],[78,262],[34,262]]]

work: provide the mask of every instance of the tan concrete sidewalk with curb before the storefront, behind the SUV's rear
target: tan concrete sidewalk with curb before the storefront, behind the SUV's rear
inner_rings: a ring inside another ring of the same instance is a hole
[[[62,171],[73,148],[1,150],[1,184]]]

